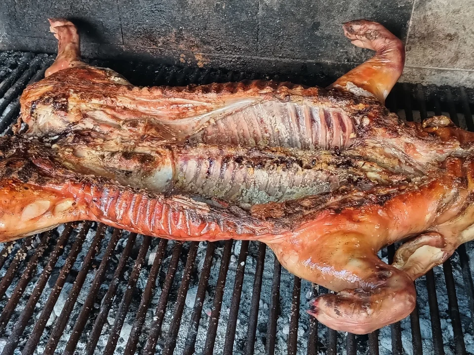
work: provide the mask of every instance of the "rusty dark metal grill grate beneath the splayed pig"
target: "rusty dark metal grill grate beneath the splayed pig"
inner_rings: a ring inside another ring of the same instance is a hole
[[[0,53],[0,131],[52,56]],[[263,75],[92,62],[135,84],[185,85]],[[280,77],[327,84],[318,77]],[[136,79],[136,80],[134,80]],[[140,81],[141,80],[141,81]],[[446,114],[474,129],[474,93],[398,84],[387,106],[408,121]],[[318,324],[307,301],[328,292],[293,277],[258,242],[182,243],[102,224],[67,224],[0,250],[0,351],[11,354],[472,354],[472,243],[416,281],[406,320],[366,336]],[[395,247],[381,251],[391,261]],[[471,258],[471,260],[470,260]]]

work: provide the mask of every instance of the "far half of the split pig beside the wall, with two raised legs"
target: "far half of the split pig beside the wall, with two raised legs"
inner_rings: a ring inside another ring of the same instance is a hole
[[[59,42],[49,76],[30,85],[21,97],[16,131],[26,125],[28,137],[51,140],[64,132],[90,131],[118,142],[151,138],[304,150],[355,149],[356,155],[409,174],[426,172],[427,164],[450,154],[463,154],[460,151],[471,149],[471,144],[464,143],[474,140],[473,133],[465,132],[464,141],[447,137],[439,145],[419,124],[402,123],[381,103],[366,97],[367,92],[376,97],[390,92],[404,57],[400,40],[373,22],[344,25],[346,36],[356,36],[356,44],[377,53],[343,75],[332,85],[337,89],[329,91],[258,80],[134,87],[114,71],[78,60],[79,37],[69,21],[55,19],[51,24],[59,38],[72,42]],[[64,67],[68,68],[61,70]],[[391,165],[394,161],[396,166]]]

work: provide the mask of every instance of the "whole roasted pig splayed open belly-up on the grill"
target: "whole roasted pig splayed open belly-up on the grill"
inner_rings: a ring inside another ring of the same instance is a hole
[[[180,240],[266,243],[335,294],[310,314],[363,334],[406,317],[413,280],[474,238],[474,135],[444,116],[403,123],[384,101],[401,41],[344,25],[373,58],[329,88],[273,81],[135,87],[80,60],[71,22],[58,57],[0,139],[0,238],[75,220]],[[387,265],[377,251],[405,243]]]

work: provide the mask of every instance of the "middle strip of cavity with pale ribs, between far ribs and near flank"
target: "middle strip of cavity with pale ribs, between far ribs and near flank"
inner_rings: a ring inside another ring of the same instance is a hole
[[[68,135],[52,145],[69,169],[156,192],[181,191],[243,205],[317,195],[346,184],[370,189],[407,177],[353,156],[291,148],[157,141],[104,141]]]

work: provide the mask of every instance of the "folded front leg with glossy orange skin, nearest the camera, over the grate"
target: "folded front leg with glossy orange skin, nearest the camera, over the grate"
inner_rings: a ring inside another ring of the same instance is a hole
[[[382,262],[366,241],[340,232],[269,246],[288,271],[337,292],[312,300],[309,314],[332,329],[366,334],[407,317],[416,303],[410,276]]]

